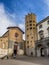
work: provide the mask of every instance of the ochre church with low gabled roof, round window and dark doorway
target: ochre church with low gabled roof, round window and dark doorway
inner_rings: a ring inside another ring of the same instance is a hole
[[[7,51],[0,51],[6,53],[7,55],[24,54],[24,32],[19,27],[8,27],[8,31],[0,37],[0,49]],[[21,53],[21,52],[22,53]],[[4,54],[3,53],[3,54]]]

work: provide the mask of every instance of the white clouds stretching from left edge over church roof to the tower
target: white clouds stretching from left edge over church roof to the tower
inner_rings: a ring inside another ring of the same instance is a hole
[[[15,14],[6,13],[4,5],[0,4],[0,36],[2,36],[7,31],[8,26],[17,26],[14,19]],[[20,23],[18,26],[24,31],[24,24]],[[25,39],[24,35],[23,39]]]

